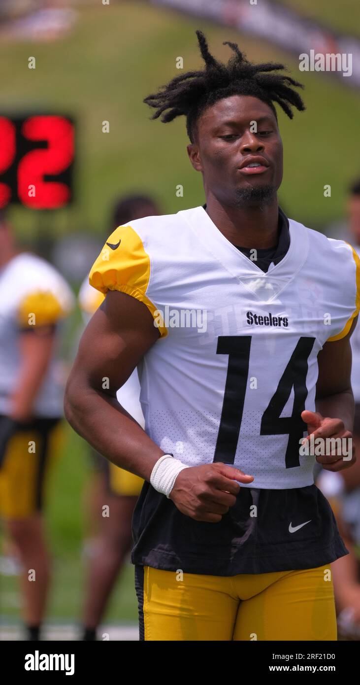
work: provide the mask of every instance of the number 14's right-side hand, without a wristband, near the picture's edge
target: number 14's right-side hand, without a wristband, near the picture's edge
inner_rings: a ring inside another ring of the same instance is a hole
[[[326,469],[326,471],[342,471],[355,464],[355,443],[352,440],[352,433],[345,429],[341,419],[324,419],[324,416],[319,414],[319,412],[309,412],[307,410],[301,412],[301,418],[307,423],[307,431],[309,433],[304,438],[304,442],[305,440],[310,441],[311,435],[313,435],[314,440],[316,438],[323,438],[324,440],[326,438],[346,438],[346,451],[342,450],[342,443],[340,443],[341,447],[339,449],[332,447],[331,450],[328,450],[328,454],[316,456],[316,461],[322,464],[323,469]],[[350,439],[351,442],[349,442]],[[351,458],[349,459],[350,455]]]

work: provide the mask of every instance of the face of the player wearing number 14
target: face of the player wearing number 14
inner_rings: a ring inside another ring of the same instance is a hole
[[[206,192],[231,206],[272,199],[283,177],[277,120],[266,103],[248,95],[233,95],[207,108],[188,154],[194,169],[203,173]]]

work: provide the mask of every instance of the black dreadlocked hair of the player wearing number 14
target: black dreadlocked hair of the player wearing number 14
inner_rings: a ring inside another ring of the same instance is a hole
[[[292,106],[299,111],[305,110],[303,100],[292,87],[303,88],[303,84],[290,76],[270,73],[279,70],[287,71],[283,64],[248,62],[237,44],[229,40],[224,41],[223,45],[229,45],[234,54],[227,64],[222,64],[209,53],[203,32],[196,31],[196,36],[205,62],[205,69],[181,74],[165,86],[161,86],[158,92],[144,98],[144,103],[156,110],[151,119],[161,116],[161,121],[168,123],[184,114],[188,136],[190,141],[194,142],[199,116],[207,107],[224,97],[231,95],[257,97],[270,106],[276,118],[274,102],[280,105],[290,119],[294,116]]]

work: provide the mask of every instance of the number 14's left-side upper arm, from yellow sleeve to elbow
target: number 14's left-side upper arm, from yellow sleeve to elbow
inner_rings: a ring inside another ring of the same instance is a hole
[[[158,338],[144,303],[123,292],[107,292],[83,332],[72,375],[114,395]]]

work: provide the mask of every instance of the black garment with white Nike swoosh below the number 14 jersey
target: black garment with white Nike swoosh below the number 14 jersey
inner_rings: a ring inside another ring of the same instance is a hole
[[[312,569],[348,554],[316,485],[241,488],[219,523],[194,521],[144,483],[133,514],[133,564],[206,575]]]

